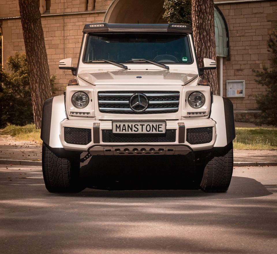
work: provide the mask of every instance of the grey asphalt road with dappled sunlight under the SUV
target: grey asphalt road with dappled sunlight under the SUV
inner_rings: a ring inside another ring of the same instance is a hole
[[[276,253],[277,167],[235,167],[212,194],[185,189],[186,169],[86,167],[102,190],[58,195],[40,167],[0,165],[1,254]]]

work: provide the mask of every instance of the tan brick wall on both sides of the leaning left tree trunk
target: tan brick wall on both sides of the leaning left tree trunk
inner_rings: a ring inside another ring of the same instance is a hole
[[[87,23],[102,22],[105,11],[111,1],[96,0],[95,13],[86,13],[85,0],[65,0],[65,3],[63,3],[63,0],[51,0],[50,14],[63,14],[63,5],[65,5],[65,15],[42,15],[41,21],[50,74],[57,76],[58,94],[63,93],[65,86],[68,84],[68,80],[73,78],[71,71],[58,69],[59,61],[63,58],[72,57],[73,66],[77,66],[84,25]],[[71,15],[70,12],[82,13]],[[14,17],[19,15],[18,1],[1,0],[0,17]],[[10,55],[14,55],[16,51],[20,53],[25,52],[25,46],[20,18],[4,19],[0,22],[4,45],[2,58],[3,66],[5,67],[5,59]]]

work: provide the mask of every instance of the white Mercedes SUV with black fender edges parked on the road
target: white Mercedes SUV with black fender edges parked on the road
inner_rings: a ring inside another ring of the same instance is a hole
[[[190,25],[86,24],[77,67],[67,58],[59,68],[76,77],[43,106],[47,190],[76,190],[93,156],[188,154],[201,162],[203,191],[228,189],[233,105],[200,78],[216,63],[199,68]]]

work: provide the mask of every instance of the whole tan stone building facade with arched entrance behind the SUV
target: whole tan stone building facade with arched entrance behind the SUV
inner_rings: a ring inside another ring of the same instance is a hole
[[[267,51],[269,33],[277,27],[277,1],[214,0],[226,23],[228,56],[223,57],[223,96],[227,81],[244,81],[244,94],[231,97],[236,110],[257,108],[255,96],[265,87],[254,81],[252,69],[270,67]],[[166,23],[162,18],[163,0],[38,0],[42,14],[50,73],[57,76],[58,93],[63,93],[71,72],[59,70],[60,59],[72,57],[76,66],[86,23]],[[2,62],[16,51],[24,52],[23,33],[17,0],[1,0],[0,28]],[[229,86],[228,86],[229,88]]]

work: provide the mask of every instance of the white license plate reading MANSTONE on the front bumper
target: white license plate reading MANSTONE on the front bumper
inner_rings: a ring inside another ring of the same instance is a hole
[[[165,133],[165,122],[113,122],[113,133]]]

